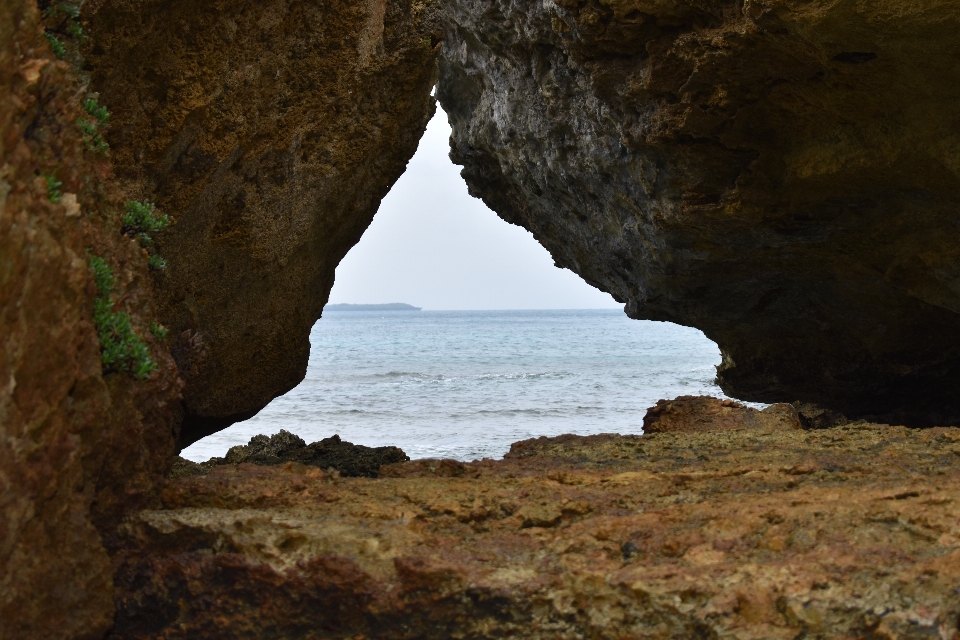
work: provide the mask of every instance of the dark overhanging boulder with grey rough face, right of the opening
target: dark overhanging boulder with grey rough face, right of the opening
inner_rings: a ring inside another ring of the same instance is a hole
[[[747,400],[960,423],[954,0],[450,0],[471,193]]]

